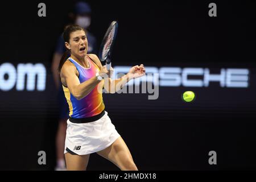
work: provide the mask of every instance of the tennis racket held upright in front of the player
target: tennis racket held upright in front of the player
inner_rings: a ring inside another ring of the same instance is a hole
[[[113,21],[106,31],[104,38],[102,39],[100,52],[98,54],[98,57],[102,62],[106,61],[106,68],[108,70],[110,70],[111,67],[110,54],[112,52],[115,37],[117,36],[117,28],[118,23]]]

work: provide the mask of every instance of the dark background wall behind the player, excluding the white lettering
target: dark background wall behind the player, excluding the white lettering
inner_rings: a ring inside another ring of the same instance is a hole
[[[0,90],[2,170],[50,170],[55,166],[57,92],[51,59],[58,36],[76,1],[42,1],[47,16],[38,17],[41,1],[5,2],[0,12],[0,66],[43,63],[46,90]],[[133,154],[139,169],[256,169],[255,158],[255,2],[217,4],[217,17],[208,16],[211,1],[88,1],[90,31],[98,39],[118,20],[113,65],[147,67],[249,69],[248,88],[160,87],[158,100],[147,94],[104,94],[106,110]],[[202,79],[203,77],[199,77]],[[7,79],[7,77],[5,77]],[[181,100],[193,90],[196,100]],[[47,165],[38,165],[38,151]],[[210,166],[208,152],[217,152]],[[91,155],[88,169],[117,169]]]

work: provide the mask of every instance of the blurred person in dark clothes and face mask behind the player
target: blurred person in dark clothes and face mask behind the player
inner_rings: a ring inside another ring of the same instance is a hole
[[[92,10],[88,3],[77,2],[73,8],[73,13],[69,14],[69,18],[73,24],[78,24],[83,27],[88,39],[88,53],[96,53],[96,38],[88,31],[91,22]],[[57,40],[56,49],[53,53],[52,59],[52,73],[56,89],[58,90],[57,99],[59,105],[59,121],[56,134],[56,171],[65,170],[65,158],[63,154],[65,145],[65,135],[67,130],[67,119],[69,118],[69,108],[67,100],[65,99],[63,89],[60,82],[60,75],[58,71],[61,56],[65,52],[65,42],[63,35],[60,35]]]

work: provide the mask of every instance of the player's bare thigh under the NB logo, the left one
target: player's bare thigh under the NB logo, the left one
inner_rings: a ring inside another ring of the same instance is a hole
[[[65,154],[67,170],[84,171],[87,168],[90,154],[88,155],[72,155],[69,152]]]

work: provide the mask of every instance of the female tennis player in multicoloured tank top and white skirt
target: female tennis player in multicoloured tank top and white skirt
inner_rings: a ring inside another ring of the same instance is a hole
[[[59,71],[69,105],[64,151],[67,169],[86,170],[90,154],[97,152],[121,170],[138,170],[105,111],[102,89],[104,86],[110,92],[117,84],[125,85],[127,81],[145,75],[144,66],[136,65],[125,76],[111,80],[113,69],[108,71],[102,67],[96,55],[87,55],[88,42],[82,27],[65,27],[63,37],[67,51],[60,61]],[[71,57],[66,60],[68,53]]]

